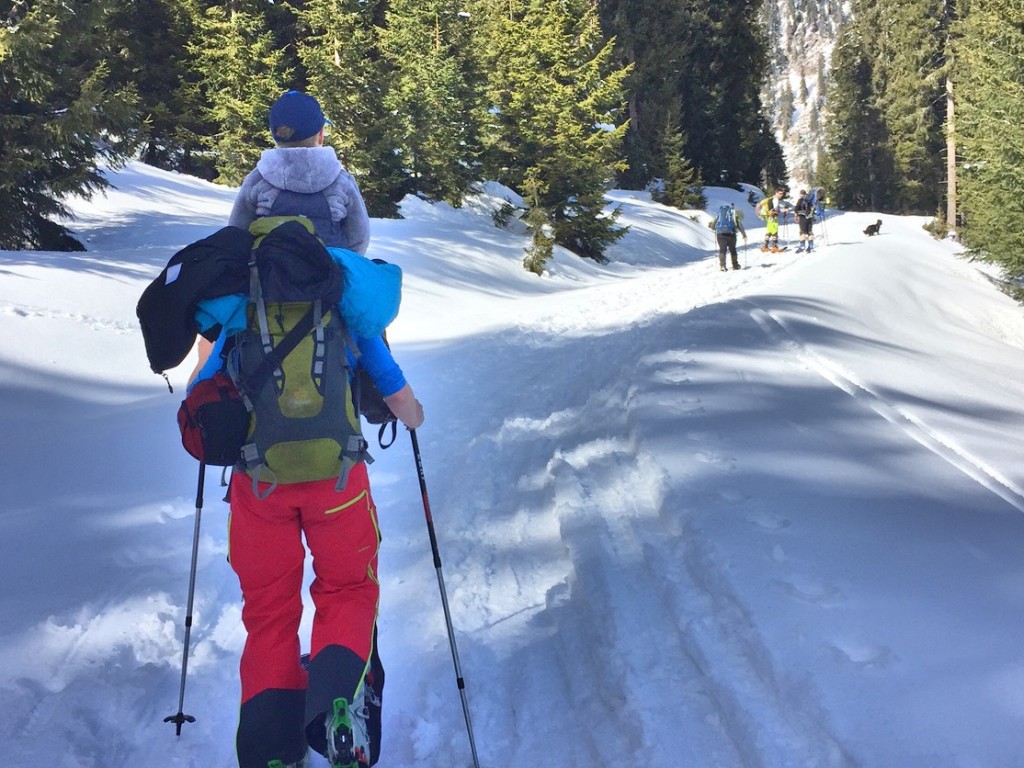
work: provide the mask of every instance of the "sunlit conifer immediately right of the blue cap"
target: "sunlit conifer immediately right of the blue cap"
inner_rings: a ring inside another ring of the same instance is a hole
[[[410,191],[401,129],[387,104],[394,65],[382,53],[384,0],[305,0],[299,44],[310,91],[334,126],[329,141],[355,176],[371,216],[395,217]]]

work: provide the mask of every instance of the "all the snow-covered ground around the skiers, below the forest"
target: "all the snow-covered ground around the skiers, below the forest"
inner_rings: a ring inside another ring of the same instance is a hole
[[[135,303],[232,190],[130,165],[84,254],[0,253],[7,764],[233,765],[240,594]],[[494,198],[408,205],[389,332],[483,768],[1024,765],[1024,315],[923,219],[833,212],[810,255],[710,257],[708,215],[616,193],[606,265]],[[791,225],[792,228],[792,225]],[[827,234],[827,238],[822,234]],[[824,241],[827,240],[827,245]],[[382,768],[471,765],[410,441],[371,469]],[[323,763],[316,763],[322,766]]]

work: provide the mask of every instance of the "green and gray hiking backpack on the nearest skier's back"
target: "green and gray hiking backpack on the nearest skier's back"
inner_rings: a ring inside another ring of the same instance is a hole
[[[278,483],[338,478],[373,461],[359,429],[342,319],[341,268],[308,220],[266,217],[250,260],[247,327],[234,336],[227,371],[249,411],[242,464],[253,479]]]

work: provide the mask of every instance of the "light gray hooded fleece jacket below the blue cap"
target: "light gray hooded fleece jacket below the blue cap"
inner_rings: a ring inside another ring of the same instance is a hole
[[[326,245],[366,254],[367,206],[355,179],[330,146],[265,150],[242,182],[227,223],[248,229],[262,216],[294,215],[312,219]]]

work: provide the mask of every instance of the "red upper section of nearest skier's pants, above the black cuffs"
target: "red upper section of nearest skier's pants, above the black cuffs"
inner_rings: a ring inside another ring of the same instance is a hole
[[[267,689],[304,690],[299,666],[299,622],[305,548],[315,578],[309,588],[313,614],[310,656],[327,646],[370,657],[380,586],[380,530],[366,465],[352,468],[348,483],[335,479],[278,485],[262,501],[244,472],[231,477],[228,546],[242,586],[242,701]],[[267,486],[261,484],[263,493]]]

